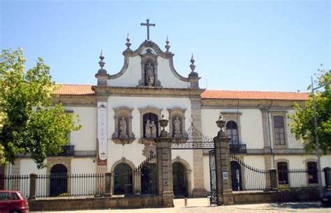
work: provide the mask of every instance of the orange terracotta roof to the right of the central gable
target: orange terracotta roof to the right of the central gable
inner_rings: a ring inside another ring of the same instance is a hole
[[[201,94],[201,98],[306,101],[309,98],[309,94],[286,91],[205,90],[203,94]]]

